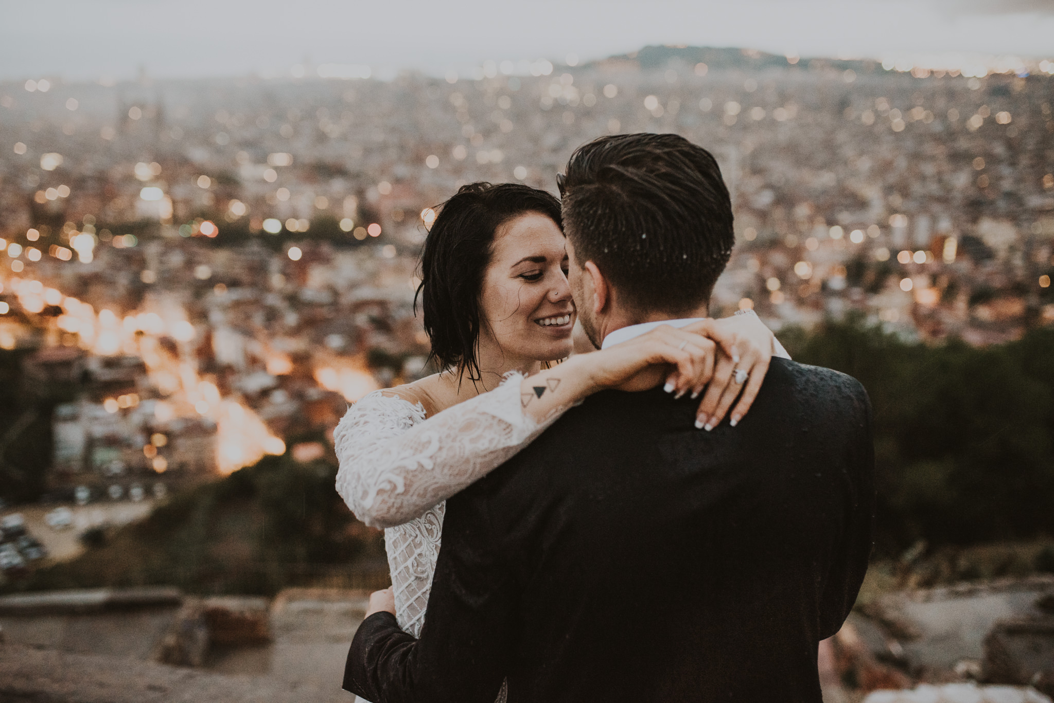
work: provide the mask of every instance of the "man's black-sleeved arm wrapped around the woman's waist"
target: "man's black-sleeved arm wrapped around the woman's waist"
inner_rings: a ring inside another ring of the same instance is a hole
[[[390,612],[367,618],[344,688],[373,703],[493,703],[509,670],[516,587],[493,526],[467,493],[447,502],[443,545],[421,639]],[[507,546],[506,546],[507,548]]]

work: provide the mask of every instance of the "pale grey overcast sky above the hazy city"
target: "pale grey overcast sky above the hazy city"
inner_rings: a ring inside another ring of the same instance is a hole
[[[297,63],[443,74],[646,44],[1054,58],[1054,0],[0,0],[0,80],[237,76]]]

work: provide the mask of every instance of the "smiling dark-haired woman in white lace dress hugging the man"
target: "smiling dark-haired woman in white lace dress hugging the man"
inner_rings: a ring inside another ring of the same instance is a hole
[[[424,623],[446,499],[602,389],[646,390],[664,380],[678,397],[705,389],[696,423],[704,430],[720,424],[739,397],[735,425],[774,353],[786,355],[753,314],[675,320],[571,355],[572,345],[577,351],[591,345],[577,335],[572,343],[560,201],[527,185],[458,190],[432,226],[422,268],[425,331],[444,371],[370,393],[334,433],[337,491],[359,520],[386,528],[392,586],[374,594],[371,611],[392,610],[414,637]],[[737,383],[740,371],[749,372],[745,386]]]

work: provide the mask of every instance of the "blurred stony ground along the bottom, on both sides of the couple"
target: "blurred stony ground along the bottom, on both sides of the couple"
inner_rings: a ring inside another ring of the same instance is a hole
[[[3,597],[0,703],[351,703],[340,679],[366,605],[305,588]],[[825,703],[1050,703],[1054,577],[887,592],[821,643],[819,665]]]

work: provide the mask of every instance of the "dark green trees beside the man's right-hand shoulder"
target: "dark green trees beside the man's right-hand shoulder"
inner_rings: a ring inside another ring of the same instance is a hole
[[[881,552],[1054,534],[1054,330],[987,349],[909,343],[858,318],[780,336],[795,359],[867,389]]]

